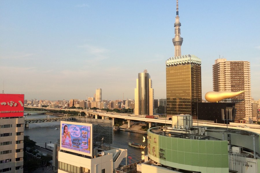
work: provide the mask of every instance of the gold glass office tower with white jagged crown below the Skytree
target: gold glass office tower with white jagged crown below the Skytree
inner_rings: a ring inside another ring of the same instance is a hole
[[[194,55],[166,61],[166,114],[194,115],[194,102],[201,102],[201,60]]]

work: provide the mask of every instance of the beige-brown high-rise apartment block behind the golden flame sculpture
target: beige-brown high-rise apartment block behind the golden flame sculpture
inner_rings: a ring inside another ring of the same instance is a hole
[[[245,91],[236,97],[223,100],[235,103],[233,119],[252,119],[250,62],[216,59],[212,70],[213,91]]]

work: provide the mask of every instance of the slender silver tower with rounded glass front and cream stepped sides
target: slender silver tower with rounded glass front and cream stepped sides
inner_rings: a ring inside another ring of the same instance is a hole
[[[138,73],[135,88],[135,115],[153,115],[152,80],[145,69]]]

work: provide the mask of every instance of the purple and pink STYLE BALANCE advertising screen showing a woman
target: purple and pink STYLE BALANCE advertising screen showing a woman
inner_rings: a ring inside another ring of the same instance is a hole
[[[60,149],[92,156],[92,124],[61,121]]]

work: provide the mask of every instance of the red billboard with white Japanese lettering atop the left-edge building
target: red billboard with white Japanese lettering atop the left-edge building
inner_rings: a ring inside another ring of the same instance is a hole
[[[0,117],[23,116],[24,94],[0,94]]]

